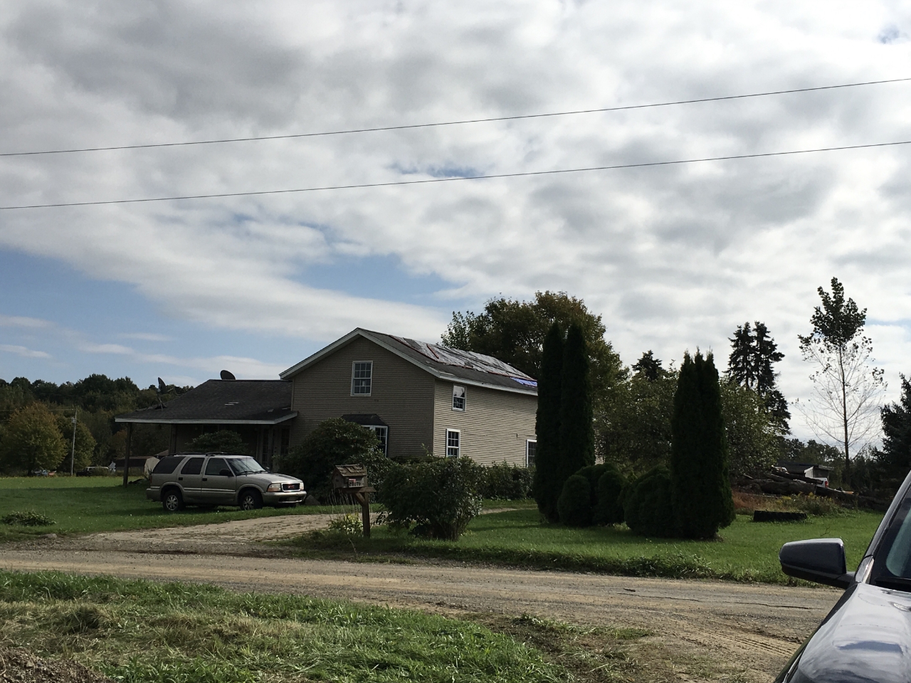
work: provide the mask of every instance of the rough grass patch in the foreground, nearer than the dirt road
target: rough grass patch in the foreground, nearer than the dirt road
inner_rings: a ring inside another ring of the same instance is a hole
[[[0,572],[0,632],[12,645],[72,656],[125,683],[569,678],[534,647],[466,621],[56,573]]]

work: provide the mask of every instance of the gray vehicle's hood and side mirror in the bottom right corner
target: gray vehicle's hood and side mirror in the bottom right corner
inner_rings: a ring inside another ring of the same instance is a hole
[[[786,543],[779,559],[789,576],[845,590],[776,683],[911,681],[911,474],[857,571],[841,538]]]

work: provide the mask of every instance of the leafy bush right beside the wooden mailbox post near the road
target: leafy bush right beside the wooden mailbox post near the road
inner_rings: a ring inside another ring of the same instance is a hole
[[[380,494],[388,524],[415,535],[455,541],[481,512],[484,468],[467,458],[393,464]]]

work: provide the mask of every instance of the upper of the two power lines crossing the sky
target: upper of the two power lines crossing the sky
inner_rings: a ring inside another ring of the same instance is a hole
[[[76,152],[107,152],[118,149],[148,149],[161,147],[189,147],[191,145],[220,145],[227,142],[257,142],[261,140],[288,140],[292,138],[321,138],[324,136],[334,135],[351,135],[353,133],[377,133],[384,130],[409,130],[414,128],[431,128],[443,126],[461,126],[469,123],[492,123],[495,121],[516,121],[522,118],[545,118],[545,117],[567,117],[576,114],[597,114],[609,111],[629,111],[630,109],[649,109],[654,107],[672,107],[675,105],[692,105],[701,102],[722,102],[730,99],[747,99],[749,97],[769,97],[771,95],[789,95],[792,93],[808,93],[816,90],[834,90],[843,87],[860,87],[860,86],[878,86],[885,83],[903,83],[911,81],[907,78],[889,78],[880,81],[864,81],[863,83],[844,83],[838,86],[818,86],[818,87],[796,87],[790,90],[770,90],[763,93],[751,93],[749,95],[728,95],[724,97],[701,97],[699,99],[680,99],[673,102],[656,102],[645,105],[628,105],[625,107],[601,107],[598,109],[577,109],[573,111],[557,111],[546,114],[522,114],[514,117],[487,117],[487,118],[466,118],[458,121],[440,121],[436,123],[415,123],[405,126],[383,126],[372,128],[351,128],[347,130],[327,130],[316,133],[293,133],[290,135],[270,135],[258,136],[253,138],[223,138],[218,140],[190,140],[187,142],[158,142],[146,145],[117,145],[111,147],[87,147],[73,149],[46,149],[43,151],[32,152],[0,152],[0,157],[34,157],[46,154],[73,154]]]

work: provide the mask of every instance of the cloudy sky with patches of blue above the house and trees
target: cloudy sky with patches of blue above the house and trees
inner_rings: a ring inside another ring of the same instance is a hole
[[[911,76],[899,2],[44,2],[0,16],[0,152],[276,136]],[[0,158],[0,205],[911,140],[911,82],[346,136]],[[837,276],[911,372],[911,146],[0,211],[0,377],[273,377],[354,327],[580,296],[625,362],[796,335]],[[801,431],[801,425],[795,428]]]

